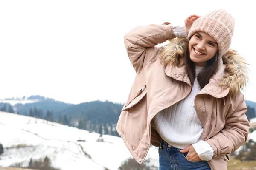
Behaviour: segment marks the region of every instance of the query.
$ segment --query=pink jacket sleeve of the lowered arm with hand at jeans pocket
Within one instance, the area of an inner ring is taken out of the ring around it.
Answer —
[[[213,159],[233,153],[246,142],[250,127],[245,115],[246,111],[244,95],[240,93],[239,104],[235,111],[228,116],[224,128],[206,140],[214,150]]]

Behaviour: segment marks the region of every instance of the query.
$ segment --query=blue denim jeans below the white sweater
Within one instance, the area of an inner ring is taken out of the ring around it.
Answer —
[[[170,146],[170,145],[169,145]],[[159,170],[211,170],[207,161],[189,161],[188,153],[181,153],[176,147],[168,147],[162,140],[159,150]]]

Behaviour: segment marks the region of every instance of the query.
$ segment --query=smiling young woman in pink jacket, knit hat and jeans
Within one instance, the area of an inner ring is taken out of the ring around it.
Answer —
[[[249,130],[240,92],[247,68],[229,50],[233,30],[233,17],[218,10],[189,16],[185,27],[151,24],[125,35],[137,74],[116,130],[138,163],[153,144],[160,170],[227,170],[227,154]]]

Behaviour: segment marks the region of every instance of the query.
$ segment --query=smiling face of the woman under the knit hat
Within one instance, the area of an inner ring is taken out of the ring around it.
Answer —
[[[216,40],[204,32],[195,33],[189,41],[189,57],[197,66],[205,66],[217,51]]]

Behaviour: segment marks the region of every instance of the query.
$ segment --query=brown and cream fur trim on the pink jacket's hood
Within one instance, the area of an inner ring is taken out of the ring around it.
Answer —
[[[161,52],[161,61],[165,65],[180,65],[180,57],[184,56],[186,38],[169,40],[169,44],[163,48]],[[229,88],[229,95],[236,96],[240,93],[248,81],[248,68],[243,57],[237,51],[228,50],[222,59],[219,59],[220,65],[216,74],[213,77],[218,77],[217,85],[220,87]],[[211,80],[210,80],[211,82]]]

